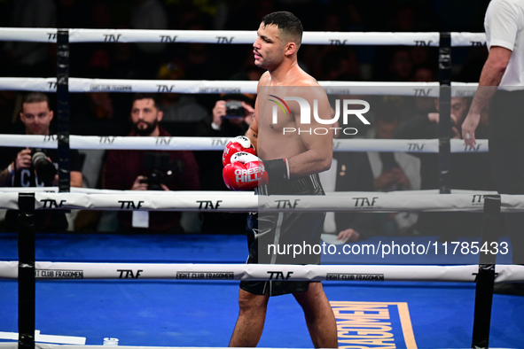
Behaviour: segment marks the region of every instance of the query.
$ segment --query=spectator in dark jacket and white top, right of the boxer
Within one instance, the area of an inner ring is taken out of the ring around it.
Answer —
[[[366,134],[367,138],[393,139],[395,129],[400,123],[398,109],[393,105],[382,104],[373,108],[374,127]],[[420,159],[405,152],[368,151],[376,191],[419,190]],[[379,213],[380,232],[385,235],[399,235],[410,232],[417,221],[417,213]]]

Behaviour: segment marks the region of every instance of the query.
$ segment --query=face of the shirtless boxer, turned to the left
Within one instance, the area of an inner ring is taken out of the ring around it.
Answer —
[[[284,58],[282,35],[274,24],[261,23],[253,44],[254,65],[263,69],[278,66]]]

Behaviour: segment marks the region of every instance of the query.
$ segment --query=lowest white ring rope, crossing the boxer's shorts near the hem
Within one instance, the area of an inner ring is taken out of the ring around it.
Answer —
[[[0,261],[0,278],[17,278],[18,261]],[[37,279],[182,279],[425,281],[473,283],[478,265],[282,265],[35,262]],[[280,274],[278,274],[280,273]],[[524,280],[524,266],[497,265],[496,283]],[[279,277],[278,275],[284,275]],[[286,278],[287,277],[287,278]],[[353,279],[352,279],[353,278]]]

